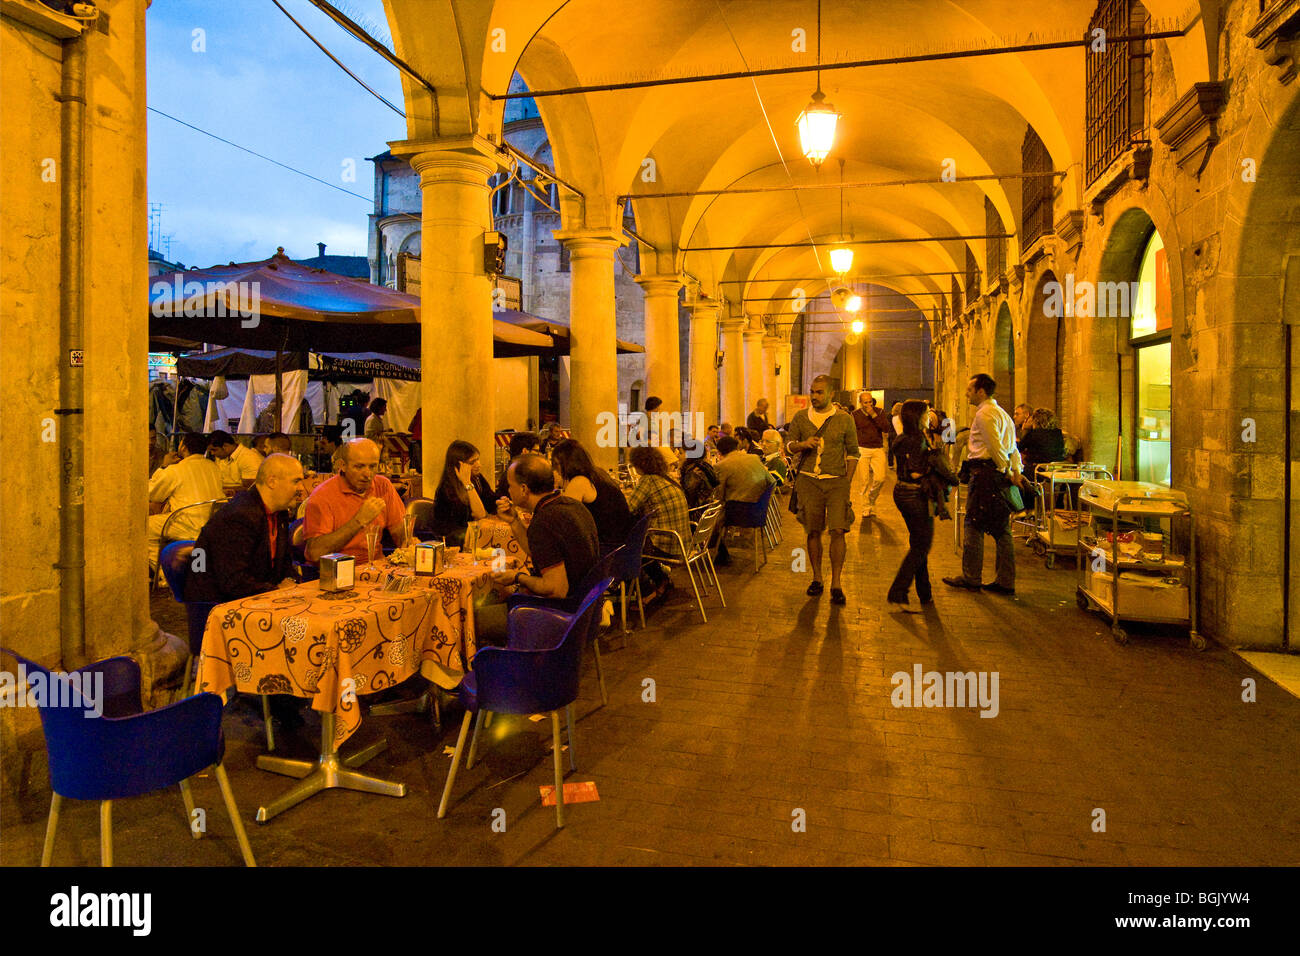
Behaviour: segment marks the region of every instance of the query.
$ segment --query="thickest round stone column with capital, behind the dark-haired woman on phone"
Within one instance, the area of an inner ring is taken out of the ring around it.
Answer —
[[[481,137],[390,146],[420,174],[420,407],[429,412],[422,466],[438,475],[456,438],[490,458],[497,428],[493,284],[484,268],[495,150]]]

